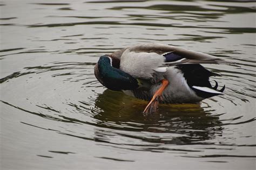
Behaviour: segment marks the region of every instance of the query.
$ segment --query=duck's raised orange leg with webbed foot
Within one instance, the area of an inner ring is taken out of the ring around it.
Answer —
[[[165,90],[167,85],[169,85],[169,81],[166,79],[163,79],[161,87],[156,91],[156,93],[154,93],[154,96],[150,100],[150,103],[147,104],[143,113],[148,114],[148,113],[153,113],[153,112],[157,111],[157,107],[159,104],[159,98],[161,98],[161,94],[163,93],[163,91]]]

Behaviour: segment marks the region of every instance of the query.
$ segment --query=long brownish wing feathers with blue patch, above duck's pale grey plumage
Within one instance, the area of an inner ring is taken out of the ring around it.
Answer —
[[[157,53],[165,57],[165,65],[177,65],[177,64],[228,64],[224,59],[207,55],[206,53],[186,50],[180,47],[146,43],[139,44],[128,48],[133,52],[147,52]]]

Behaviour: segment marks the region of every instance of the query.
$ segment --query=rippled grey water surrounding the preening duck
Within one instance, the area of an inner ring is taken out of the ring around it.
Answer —
[[[255,168],[255,3],[0,5],[1,169]],[[93,66],[146,42],[236,63],[204,65],[225,95],[144,117],[147,102],[106,90]]]

